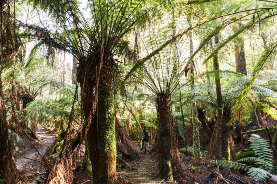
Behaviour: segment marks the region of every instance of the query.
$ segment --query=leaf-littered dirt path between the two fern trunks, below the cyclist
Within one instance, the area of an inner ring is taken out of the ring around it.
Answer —
[[[132,183],[157,184],[160,179],[158,177],[159,175],[158,165],[156,162],[156,153],[146,152],[146,154],[143,154],[139,149],[139,143],[137,142],[134,143],[133,146],[136,152],[139,154],[140,160],[127,162],[127,164],[130,164],[131,167],[137,170],[131,170],[129,167],[124,167],[123,169],[117,171],[117,173]]]

